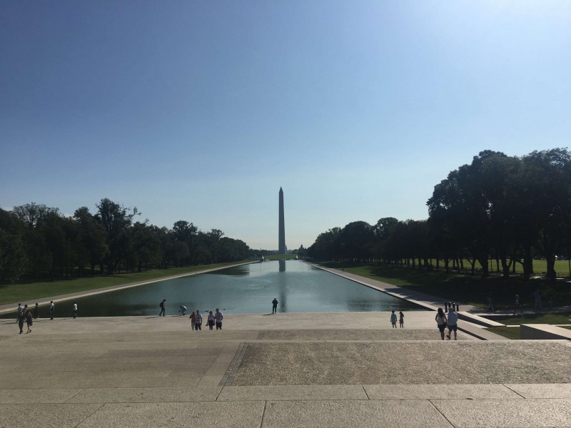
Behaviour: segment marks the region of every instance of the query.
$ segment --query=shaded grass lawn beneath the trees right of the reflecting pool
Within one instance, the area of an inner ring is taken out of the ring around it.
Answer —
[[[340,263],[322,263],[328,267],[341,268]],[[533,293],[540,289],[543,300],[552,299],[554,306],[571,302],[571,285],[568,282],[550,284],[544,280],[524,280],[522,277],[489,277],[478,275],[428,271],[410,267],[386,267],[378,265],[345,265],[345,271],[388,282],[400,287],[442,297],[444,301],[463,302],[477,307],[486,306],[486,298],[492,296],[496,309],[512,309],[515,295],[520,295],[522,307],[532,307]]]

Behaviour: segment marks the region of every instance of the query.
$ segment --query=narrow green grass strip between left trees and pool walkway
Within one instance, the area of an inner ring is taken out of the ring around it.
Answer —
[[[207,270],[214,267],[225,267],[229,265],[236,265],[236,263],[174,267],[171,269],[156,269],[149,270],[147,272],[124,273],[120,275],[83,277],[54,282],[31,282],[29,284],[0,285],[0,305],[7,305],[9,303],[17,304],[19,302],[24,303],[30,300],[40,300],[42,297],[94,290],[96,288],[128,284],[129,282],[156,280],[172,275],[181,275],[184,273],[196,272],[198,270]]]

